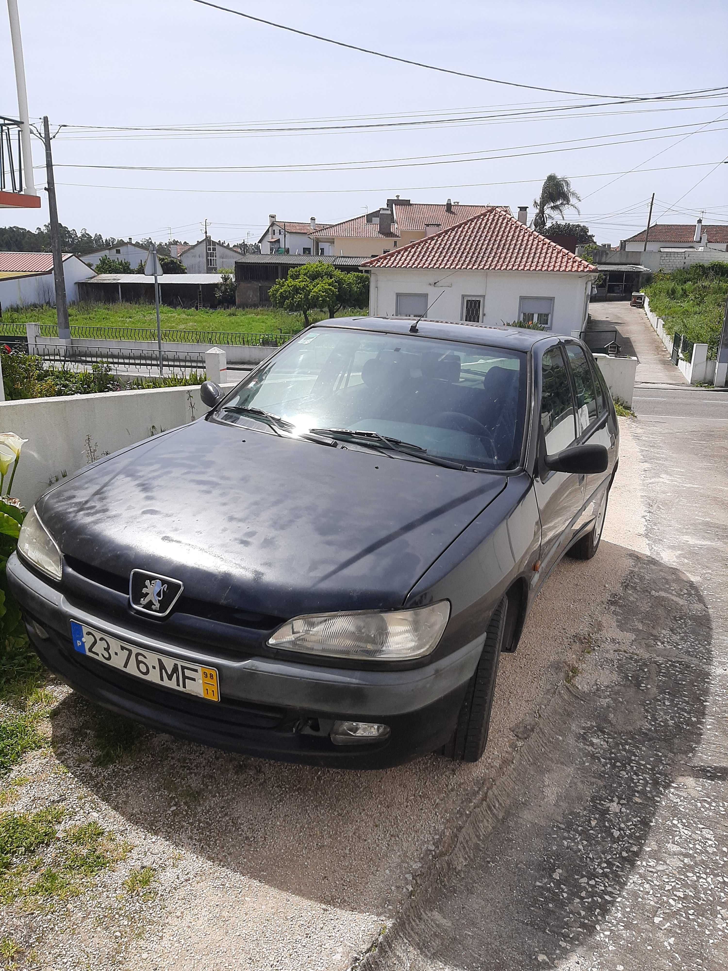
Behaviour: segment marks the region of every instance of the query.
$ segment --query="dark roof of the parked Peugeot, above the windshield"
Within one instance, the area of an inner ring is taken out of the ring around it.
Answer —
[[[319,320],[314,327],[347,327],[356,330],[378,330],[389,334],[410,334],[412,317],[338,317]],[[446,341],[463,341],[495,348],[511,348],[513,351],[529,351],[538,341],[554,336],[548,331],[529,330],[524,327],[488,327],[478,323],[458,323],[453,320],[417,320],[418,337],[440,338]]]

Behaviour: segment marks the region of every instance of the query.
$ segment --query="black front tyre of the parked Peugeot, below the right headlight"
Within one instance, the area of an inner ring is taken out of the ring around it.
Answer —
[[[468,683],[457,717],[457,726],[452,738],[443,748],[443,754],[456,762],[477,762],[485,751],[507,610],[508,599],[504,597],[490,618],[480,661],[476,673]]]

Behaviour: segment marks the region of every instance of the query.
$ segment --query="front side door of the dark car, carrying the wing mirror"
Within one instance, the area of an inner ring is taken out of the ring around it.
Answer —
[[[539,456],[534,488],[541,517],[541,577],[569,546],[578,528],[583,506],[583,483],[566,472],[552,472],[544,456],[568,449],[577,438],[572,380],[562,344],[554,344],[541,356],[541,402],[538,434]]]

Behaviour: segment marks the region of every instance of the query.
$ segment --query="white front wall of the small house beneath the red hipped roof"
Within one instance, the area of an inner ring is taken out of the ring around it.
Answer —
[[[460,320],[462,297],[484,296],[482,323],[499,326],[518,317],[520,297],[553,297],[551,329],[558,334],[580,330],[588,307],[591,274],[502,273],[461,270],[372,269],[370,314],[394,317],[397,293],[427,293],[436,320]],[[436,286],[436,282],[440,286]],[[437,303],[434,301],[437,299]]]

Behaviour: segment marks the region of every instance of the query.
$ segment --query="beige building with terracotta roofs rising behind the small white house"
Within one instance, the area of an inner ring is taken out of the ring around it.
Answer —
[[[449,229],[489,208],[492,207],[461,206],[449,199],[444,205],[387,199],[386,206],[381,209],[313,232],[314,255],[323,253],[369,259]],[[507,207],[502,208],[511,213]]]

